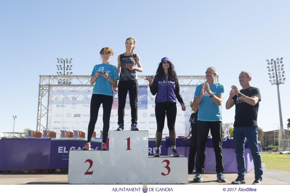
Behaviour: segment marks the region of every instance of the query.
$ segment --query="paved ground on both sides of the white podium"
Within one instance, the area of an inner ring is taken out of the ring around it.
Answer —
[[[205,172],[203,182],[192,182],[193,174],[188,175],[188,184],[231,184],[237,178],[237,174],[225,174],[227,183],[218,183],[216,174],[213,172]],[[246,174],[246,184],[252,184],[254,181],[254,171]],[[265,170],[263,175],[263,184],[288,184],[290,185],[290,172],[280,170]],[[0,184],[68,184],[67,173],[0,173]]]

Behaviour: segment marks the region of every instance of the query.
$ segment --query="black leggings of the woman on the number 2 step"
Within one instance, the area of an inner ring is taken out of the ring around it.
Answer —
[[[109,127],[110,115],[113,104],[113,96],[103,94],[93,94],[90,104],[90,123],[88,126],[88,142],[91,142],[95,125],[98,119],[99,108],[103,103],[103,143],[106,143]]]

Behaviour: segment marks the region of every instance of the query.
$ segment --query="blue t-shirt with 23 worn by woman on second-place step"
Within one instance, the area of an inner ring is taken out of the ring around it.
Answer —
[[[116,66],[110,64],[97,64],[94,66],[91,76],[95,76],[96,73],[104,74],[107,72],[111,79],[119,79],[118,70]],[[104,94],[113,96],[112,84],[108,79],[105,79],[102,75],[96,79],[93,94]]]

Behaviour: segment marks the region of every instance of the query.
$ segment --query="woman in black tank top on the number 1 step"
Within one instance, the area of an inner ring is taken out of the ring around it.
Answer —
[[[126,52],[118,56],[118,129],[124,130],[124,114],[126,97],[129,91],[131,106],[131,130],[138,131],[137,128],[137,101],[138,101],[138,81],[136,72],[142,72],[142,65],[137,54],[133,53],[136,40],[133,37],[126,39]],[[136,66],[137,64],[137,66]]]

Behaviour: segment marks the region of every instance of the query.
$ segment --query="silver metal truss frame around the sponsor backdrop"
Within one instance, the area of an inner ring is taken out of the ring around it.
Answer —
[[[139,85],[148,85],[146,76],[138,76]],[[91,76],[39,76],[39,91],[37,105],[36,130],[48,130],[50,116],[51,88],[53,87],[77,87],[92,86]],[[198,85],[206,81],[205,76],[178,76],[180,85]],[[217,77],[218,81],[218,77]]]

